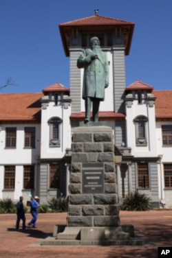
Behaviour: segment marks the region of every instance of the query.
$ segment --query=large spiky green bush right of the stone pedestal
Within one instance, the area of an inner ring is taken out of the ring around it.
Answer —
[[[151,209],[150,201],[151,199],[144,193],[135,191],[125,197],[120,209],[123,211],[148,211]]]

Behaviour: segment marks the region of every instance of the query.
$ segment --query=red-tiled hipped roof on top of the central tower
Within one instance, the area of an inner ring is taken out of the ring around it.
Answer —
[[[122,21],[119,19],[109,18],[105,16],[99,16],[96,13],[94,16],[61,23],[59,25],[59,29],[61,32],[61,38],[63,41],[63,47],[65,49],[66,56],[69,56],[69,34],[71,34],[74,29],[79,31],[82,30],[82,32],[107,32],[114,30],[115,27],[122,27],[125,31],[125,34],[127,34],[125,54],[128,55],[134,29],[134,23],[132,22]]]

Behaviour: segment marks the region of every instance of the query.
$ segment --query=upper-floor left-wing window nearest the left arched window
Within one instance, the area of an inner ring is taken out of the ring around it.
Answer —
[[[28,132],[27,132],[28,130]],[[27,126],[24,128],[25,136],[24,136],[24,148],[36,148],[36,128],[34,126]],[[26,140],[28,140],[29,144],[26,144]]]

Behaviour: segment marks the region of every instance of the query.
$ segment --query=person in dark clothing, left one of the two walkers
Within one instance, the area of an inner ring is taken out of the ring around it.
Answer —
[[[23,205],[23,196],[20,196],[19,202],[17,202],[17,222],[16,222],[16,229],[19,231],[19,224],[20,220],[23,220],[23,229],[27,229],[25,227],[25,211],[24,211],[24,205]]]

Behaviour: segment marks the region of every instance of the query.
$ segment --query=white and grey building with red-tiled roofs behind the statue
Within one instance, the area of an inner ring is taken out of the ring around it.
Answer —
[[[172,206],[172,91],[136,81],[126,87],[125,56],[134,23],[95,16],[59,25],[70,58],[70,89],[55,83],[43,93],[0,94],[0,198],[28,191],[41,203],[68,194],[72,132],[84,120],[83,69],[76,67],[89,38],[98,36],[109,61],[109,87],[100,121],[114,130],[118,194],[138,189]]]

